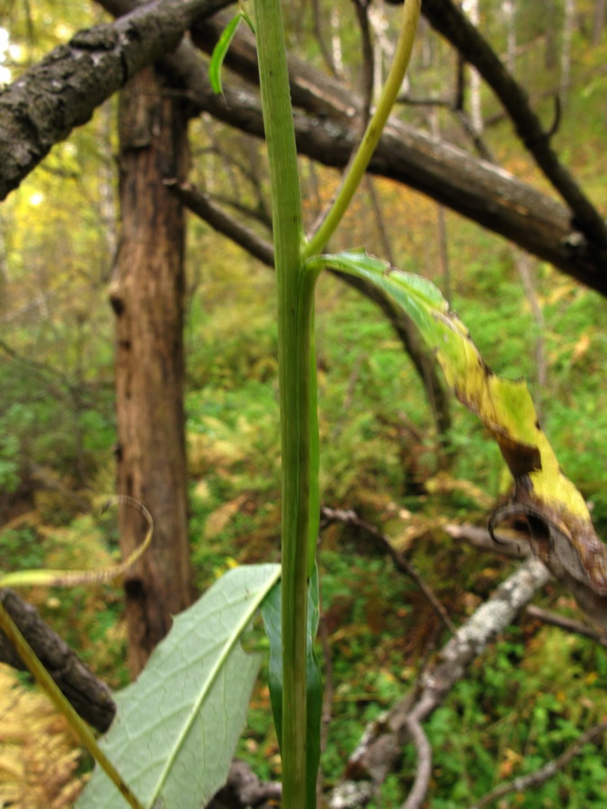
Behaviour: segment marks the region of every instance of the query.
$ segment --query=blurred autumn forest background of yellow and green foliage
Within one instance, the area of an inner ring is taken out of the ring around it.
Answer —
[[[362,92],[368,74],[357,9],[364,4],[294,0],[288,6],[290,49]],[[559,95],[552,144],[604,213],[605,4],[479,0],[476,10],[480,31],[542,120],[554,117]],[[398,13],[397,6],[374,0],[363,15],[376,92]],[[84,0],[4,2],[0,82],[10,84],[76,31],[106,19]],[[504,170],[553,194],[495,96],[468,67],[462,73],[465,115],[447,103],[412,102],[450,99],[457,73],[453,49],[423,21],[397,116],[462,149],[480,148]],[[2,570],[75,567],[83,559],[101,565],[119,553],[115,514],[98,514],[116,478],[115,317],[108,298],[121,238],[116,116],[114,97],[54,147],[0,207]],[[205,114],[192,120],[190,143],[190,182],[267,239],[261,142]],[[339,173],[307,157],[300,165],[309,226],[335,192]],[[186,244],[188,525],[201,591],[229,566],[278,559],[276,324],[271,270],[193,214]],[[332,244],[335,250],[351,246],[434,280],[492,369],[527,378],[561,466],[592,503],[604,537],[604,297],[385,178],[363,184]],[[415,564],[456,624],[513,562],[451,536],[453,526],[485,526],[487,513],[508,493],[498,449],[455,400],[448,405],[448,430],[439,434],[419,374],[388,320],[328,275],[317,292],[317,369],[322,501],[360,518],[326,520],[320,538],[321,653],[333,715],[322,768],[330,787],[365,724],[415,683],[424,658],[445,639],[424,594],[395,569],[368,526]],[[154,502],[146,504],[154,511]],[[112,688],[128,681],[120,587],[27,596]],[[550,582],[537,603],[580,618],[558,582]],[[22,714],[11,713],[9,723],[15,680],[9,669],[0,674],[0,805],[70,805],[84,765],[52,712],[27,707],[28,699],[38,699],[33,693],[19,692]],[[428,723],[435,755],[429,805],[473,805],[502,779],[554,759],[607,715],[606,687],[602,645],[523,615]],[[271,725],[262,684],[239,754],[263,778],[280,775]],[[45,764],[51,756],[58,762],[52,777]],[[377,806],[400,805],[413,765],[406,751]],[[596,742],[542,787],[496,805],[599,807],[605,795],[607,766]]]

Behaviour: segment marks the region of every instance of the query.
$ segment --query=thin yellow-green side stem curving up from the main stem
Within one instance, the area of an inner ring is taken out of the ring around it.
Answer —
[[[335,233],[335,228],[344,217],[344,213],[361,183],[362,176],[367,171],[370,158],[378,145],[381,132],[386,125],[388,115],[405,78],[406,67],[409,64],[411,50],[413,49],[420,5],[421,0],[406,0],[403,6],[403,21],[400,27],[394,61],[390,67],[386,84],[381,91],[377,108],[362,136],[361,145],[358,147],[358,151],[350,164],[350,170],[345,175],[344,182],[342,182],[331,208],[328,209],[326,217],[321,222],[317,232],[308,242],[305,250],[307,258],[321,253],[325,249],[327,242]]]

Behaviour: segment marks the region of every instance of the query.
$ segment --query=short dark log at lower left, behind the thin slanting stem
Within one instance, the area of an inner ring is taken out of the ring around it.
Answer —
[[[116,713],[110,689],[102,680],[97,680],[66,642],[44,623],[31,604],[12,590],[0,590],[0,601],[78,714],[104,733]],[[26,670],[22,659],[1,631],[0,662],[19,671]]]

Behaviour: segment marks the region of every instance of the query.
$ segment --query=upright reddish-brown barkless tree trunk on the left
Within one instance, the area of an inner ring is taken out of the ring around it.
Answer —
[[[118,491],[152,513],[152,547],[126,575],[129,670],[137,675],[172,616],[192,603],[183,414],[183,208],[163,184],[183,177],[187,116],[147,67],[121,96],[121,240],[116,313]],[[142,538],[121,507],[121,551]]]

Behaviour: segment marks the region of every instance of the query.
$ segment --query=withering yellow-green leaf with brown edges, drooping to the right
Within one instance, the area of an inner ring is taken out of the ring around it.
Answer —
[[[431,281],[362,250],[316,256],[306,266],[317,271],[320,264],[370,280],[405,309],[455,395],[497,441],[513,475],[513,497],[495,511],[490,530],[504,519],[524,520],[533,553],[607,628],[607,547],[596,536],[584,497],[562,473],[525,383],[497,377],[488,368]]]

